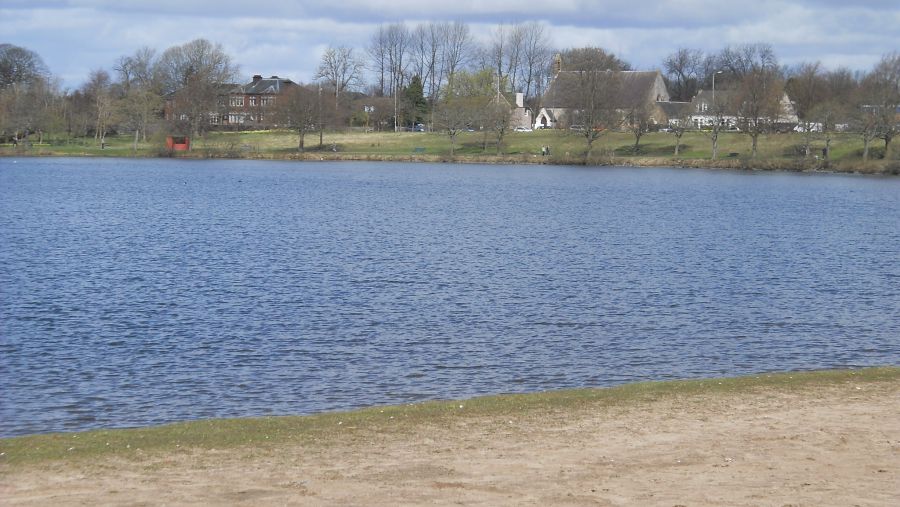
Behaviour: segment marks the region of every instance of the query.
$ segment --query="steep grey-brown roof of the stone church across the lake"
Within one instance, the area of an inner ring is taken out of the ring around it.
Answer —
[[[615,107],[617,109],[625,109],[634,104],[644,101],[656,101],[657,97],[653,96],[653,88],[657,79],[662,79],[659,71],[596,71],[598,73],[609,73],[615,79],[618,86],[616,93]],[[550,86],[547,87],[546,93],[541,101],[543,107],[549,108],[569,108],[572,107],[572,97],[578,88],[578,79],[581,75],[579,71],[564,70],[556,74]],[[668,93],[659,97],[659,100],[668,100]]]

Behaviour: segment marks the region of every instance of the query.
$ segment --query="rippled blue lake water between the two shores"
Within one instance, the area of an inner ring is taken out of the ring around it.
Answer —
[[[0,435],[900,364],[900,179],[0,159]]]

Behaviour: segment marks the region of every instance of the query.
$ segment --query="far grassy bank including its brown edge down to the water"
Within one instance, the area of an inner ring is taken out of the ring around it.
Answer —
[[[634,138],[627,133],[603,135],[585,156],[584,138],[569,131],[539,130],[511,132],[498,153],[496,139],[481,132],[464,132],[450,156],[449,138],[441,133],[419,132],[327,132],[321,147],[318,135],[306,136],[306,150],[297,149],[298,135],[289,131],[212,132],[193,141],[193,150],[176,156],[193,158],[247,158],[289,160],[400,160],[469,163],[550,163],[626,166],[718,167],[729,169],[827,170],[871,174],[900,174],[900,150],[883,157],[876,143],[872,160],[862,161],[862,141],[854,134],[839,134],[832,141],[831,163],[804,157],[802,134],[771,134],[760,138],[760,153],[750,157],[750,138],[739,132],[725,132],[719,138],[719,160],[710,160],[711,141],[702,132],[689,132],[681,140],[681,153],[674,156],[675,137],[664,132],[646,134],[637,152]],[[111,136],[101,148],[93,139],[66,139],[48,136],[30,147],[0,146],[6,156],[167,156],[162,138],[133,146],[131,135]],[[823,141],[812,144],[821,153]],[[550,156],[541,148],[550,147]]]

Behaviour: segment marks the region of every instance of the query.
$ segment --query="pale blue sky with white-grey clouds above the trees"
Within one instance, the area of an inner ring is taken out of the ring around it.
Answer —
[[[717,52],[768,43],[782,64],[869,70],[900,51],[897,0],[0,0],[0,42],[37,52],[63,87],[143,46],[221,43],[240,76],[312,80],[329,46],[362,52],[384,23],[462,21],[488,41],[537,21],[555,47],[600,46],[640,70],[679,47]]]

